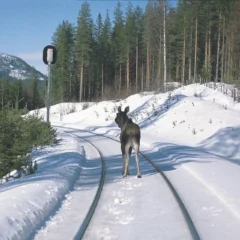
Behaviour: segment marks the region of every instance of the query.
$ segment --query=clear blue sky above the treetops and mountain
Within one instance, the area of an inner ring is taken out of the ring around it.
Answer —
[[[0,53],[22,58],[42,73],[47,66],[42,61],[42,51],[52,43],[57,26],[63,21],[76,25],[83,1],[78,0],[1,0],[0,2]],[[93,19],[100,12],[110,17],[117,1],[88,1]],[[123,9],[128,1],[120,1]],[[147,0],[131,1],[133,6],[145,8]]]

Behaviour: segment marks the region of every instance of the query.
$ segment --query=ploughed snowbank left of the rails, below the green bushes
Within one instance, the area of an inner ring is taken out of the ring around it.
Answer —
[[[56,147],[35,152],[35,174],[0,185],[0,239],[28,239],[54,213],[79,176],[84,152],[60,133]]]

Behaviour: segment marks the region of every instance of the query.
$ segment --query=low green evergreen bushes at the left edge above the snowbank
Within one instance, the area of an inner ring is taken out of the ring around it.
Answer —
[[[21,111],[3,107],[0,110],[0,177],[16,169],[34,172],[30,153],[36,147],[50,145],[56,131],[38,114],[22,116]]]

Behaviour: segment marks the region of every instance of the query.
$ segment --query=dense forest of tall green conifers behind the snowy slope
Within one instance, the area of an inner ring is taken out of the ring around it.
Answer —
[[[168,0],[151,0],[145,9],[134,8],[131,2],[123,9],[118,2],[113,19],[106,11],[94,21],[90,4],[83,2],[76,24],[63,20],[52,36],[58,55],[51,70],[51,102],[164,92],[168,82],[237,86],[239,17],[237,0],[178,0],[175,6]],[[24,93],[19,81],[11,83],[15,108],[26,101],[31,109],[44,105],[44,88],[30,82]]]

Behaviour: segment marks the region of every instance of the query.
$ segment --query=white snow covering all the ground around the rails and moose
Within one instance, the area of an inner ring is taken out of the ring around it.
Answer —
[[[62,140],[33,153],[35,174],[0,185],[0,239],[77,239],[96,193],[102,151],[106,184],[85,239],[189,239],[161,177],[140,159],[137,179],[121,177],[117,108],[141,127],[141,151],[164,170],[201,239],[240,239],[240,104],[193,84],[171,93],[144,92],[119,101],[62,103],[50,120]],[[46,118],[46,109],[39,114]],[[72,135],[72,133],[76,135]]]

